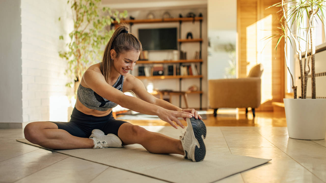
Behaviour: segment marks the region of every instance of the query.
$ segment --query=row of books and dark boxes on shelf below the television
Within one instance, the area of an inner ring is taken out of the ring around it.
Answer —
[[[197,76],[200,72],[195,63],[179,64],[153,64],[153,66],[139,66],[138,76]]]

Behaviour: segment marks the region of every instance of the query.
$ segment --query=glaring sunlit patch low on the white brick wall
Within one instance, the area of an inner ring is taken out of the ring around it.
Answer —
[[[50,96],[50,121],[67,122],[68,107],[67,96]]]

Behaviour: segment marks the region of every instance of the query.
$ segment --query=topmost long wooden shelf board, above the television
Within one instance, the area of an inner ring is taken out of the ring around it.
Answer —
[[[203,20],[202,17],[195,17],[195,21]],[[120,20],[120,23],[156,23],[156,22],[178,22],[193,21],[193,18],[170,18],[170,19],[140,19],[140,20]],[[113,22],[117,24],[117,21]]]

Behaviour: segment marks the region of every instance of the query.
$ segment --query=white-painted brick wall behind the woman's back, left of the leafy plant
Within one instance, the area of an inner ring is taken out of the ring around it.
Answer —
[[[67,0],[21,2],[23,122],[63,119],[56,118],[62,115],[57,109],[67,108],[67,102],[58,98],[64,100],[68,92],[67,62],[58,54],[65,43],[59,35],[68,37],[70,17]]]

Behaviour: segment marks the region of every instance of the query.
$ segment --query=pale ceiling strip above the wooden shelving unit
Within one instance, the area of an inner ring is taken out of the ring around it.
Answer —
[[[207,7],[207,0],[102,0],[102,6],[116,10]]]

